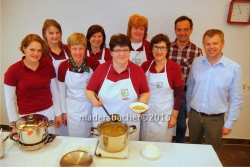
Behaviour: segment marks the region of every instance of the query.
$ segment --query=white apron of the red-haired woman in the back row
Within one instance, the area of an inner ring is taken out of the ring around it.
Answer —
[[[129,60],[141,66],[147,60],[145,46],[143,46],[143,51],[131,51]]]

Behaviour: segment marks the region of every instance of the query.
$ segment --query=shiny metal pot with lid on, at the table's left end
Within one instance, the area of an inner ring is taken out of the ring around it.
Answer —
[[[26,115],[10,123],[10,127],[17,129],[17,133],[12,134],[10,138],[22,145],[41,145],[41,142],[48,140],[47,128],[52,125],[53,120],[48,120],[44,115]],[[18,135],[17,140],[13,139],[16,134]]]

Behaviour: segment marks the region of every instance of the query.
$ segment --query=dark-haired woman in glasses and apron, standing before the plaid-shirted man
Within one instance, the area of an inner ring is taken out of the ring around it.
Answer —
[[[154,60],[146,61],[142,68],[150,89],[147,115],[154,121],[143,121],[140,140],[171,142],[173,128],[181,106],[184,80],[180,66],[170,60],[170,41],[167,35],[158,34],[150,41]]]

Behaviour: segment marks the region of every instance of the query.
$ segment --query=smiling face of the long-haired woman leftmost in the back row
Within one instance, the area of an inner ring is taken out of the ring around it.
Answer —
[[[61,41],[62,35],[56,27],[50,26],[46,30],[45,37],[47,38],[47,41],[50,45],[50,44],[58,44]]]

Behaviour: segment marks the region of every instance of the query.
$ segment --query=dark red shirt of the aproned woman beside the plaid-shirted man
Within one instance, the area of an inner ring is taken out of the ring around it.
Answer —
[[[147,72],[152,61],[153,60],[145,61],[141,65],[145,73]],[[155,62],[153,62],[149,69],[149,72],[157,73],[155,69],[155,65],[156,65]],[[165,72],[164,70],[165,68],[163,68],[160,71],[160,73]],[[181,107],[183,90],[184,90],[184,79],[182,77],[181,68],[177,63],[173,62],[170,59],[167,59],[166,71],[167,71],[166,77],[168,79],[169,86],[174,90],[174,108],[173,109],[179,111]]]

